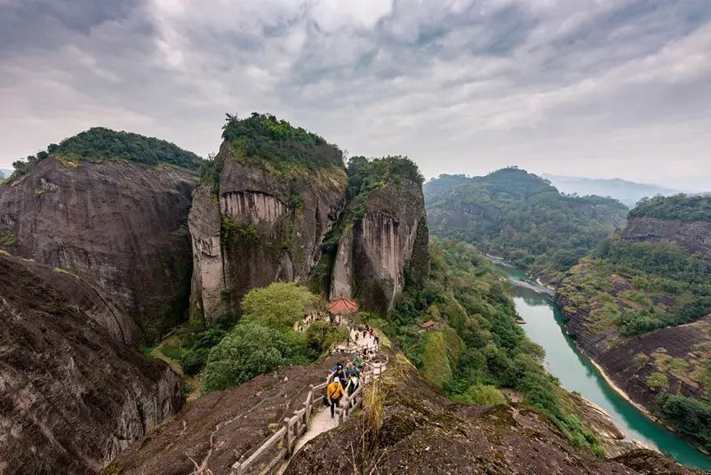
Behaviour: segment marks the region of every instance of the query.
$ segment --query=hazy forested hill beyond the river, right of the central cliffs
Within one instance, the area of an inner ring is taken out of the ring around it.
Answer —
[[[515,167],[472,178],[441,175],[424,192],[435,235],[470,242],[551,280],[624,224],[627,214],[617,200],[563,195]]]

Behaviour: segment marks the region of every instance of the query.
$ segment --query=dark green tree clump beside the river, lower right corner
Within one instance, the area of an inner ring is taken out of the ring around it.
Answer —
[[[711,406],[708,402],[664,392],[657,397],[655,412],[711,450]]]

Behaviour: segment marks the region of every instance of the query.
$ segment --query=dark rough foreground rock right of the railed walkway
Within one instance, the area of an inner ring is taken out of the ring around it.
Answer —
[[[609,460],[580,454],[530,409],[454,404],[413,369],[383,377],[378,418],[324,432],[284,473],[695,473],[649,450]]]

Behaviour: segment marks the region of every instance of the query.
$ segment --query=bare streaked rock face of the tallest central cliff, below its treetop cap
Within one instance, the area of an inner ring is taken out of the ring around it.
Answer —
[[[201,285],[194,278],[193,301],[202,302],[202,316],[208,322],[219,315],[222,305],[238,308],[252,288],[308,278],[321,257],[324,236],[343,208],[346,190],[345,170],[300,169],[287,176],[268,163],[236,159],[227,142],[220,156],[224,165],[218,202],[212,197],[207,205],[204,188],[209,185],[203,185],[190,221],[194,254],[200,254],[195,274],[202,276]],[[205,247],[211,248],[209,258]],[[221,281],[215,277],[220,273]],[[211,275],[209,281],[206,274]],[[218,295],[223,302],[218,302]],[[199,317],[201,308],[193,305],[193,312]]]

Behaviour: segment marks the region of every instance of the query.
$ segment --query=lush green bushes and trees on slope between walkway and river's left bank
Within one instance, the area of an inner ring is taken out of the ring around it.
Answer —
[[[563,410],[558,382],[541,366],[543,350],[516,325],[504,275],[467,243],[432,239],[430,259],[424,287],[406,289],[382,324],[425,378],[452,399],[479,404],[501,400],[497,388],[520,390],[573,444],[599,452]],[[423,331],[429,319],[438,325]]]

